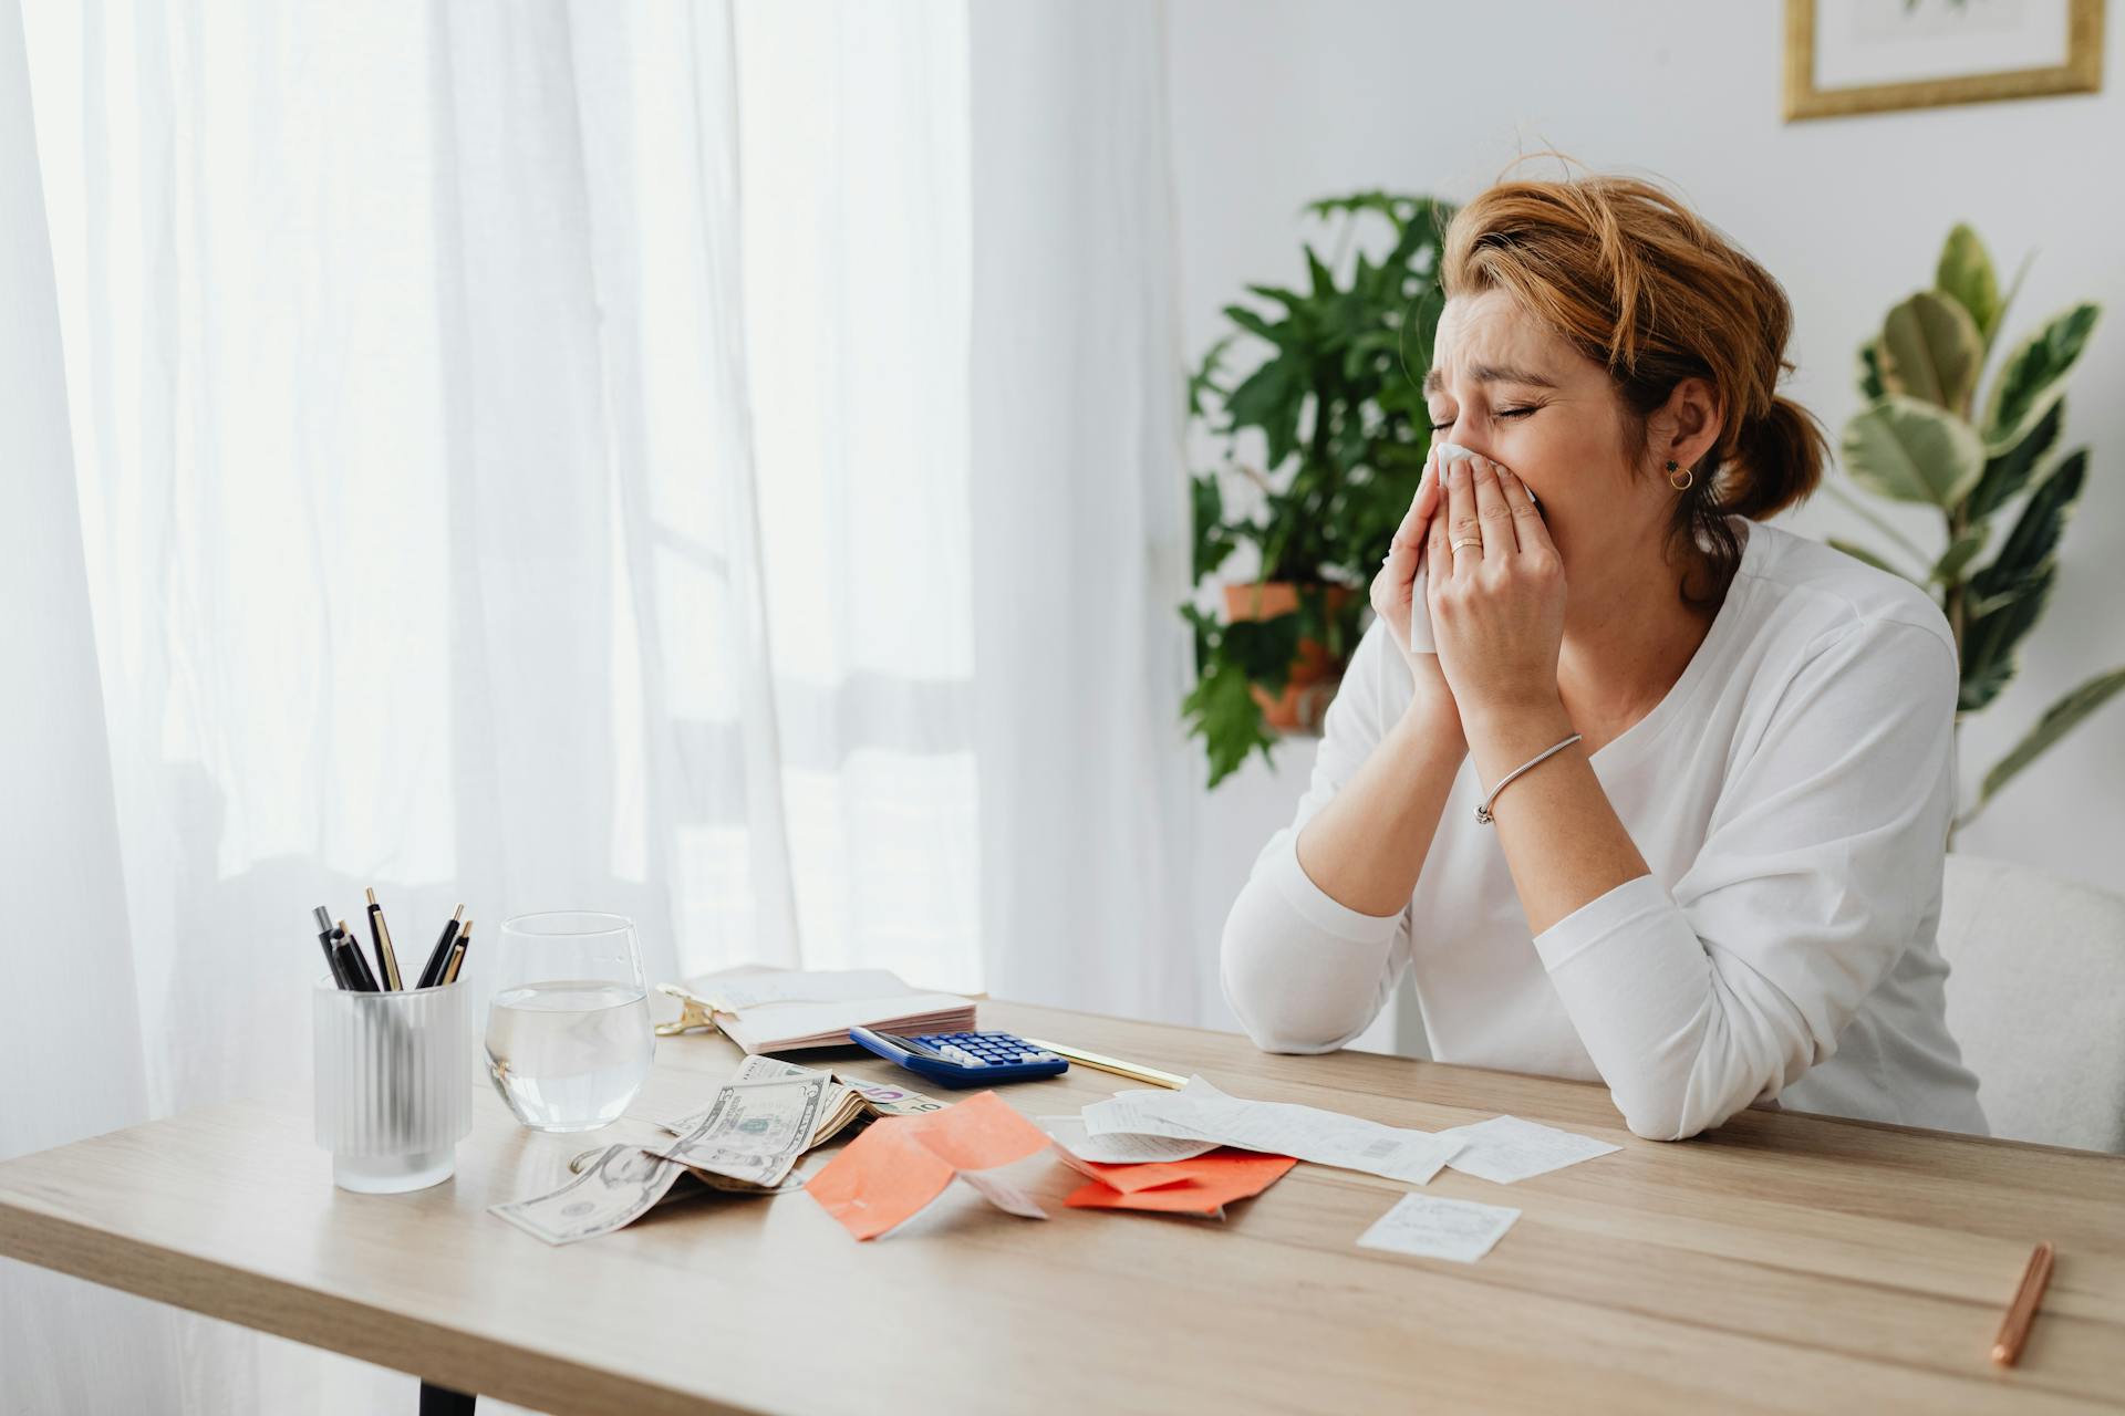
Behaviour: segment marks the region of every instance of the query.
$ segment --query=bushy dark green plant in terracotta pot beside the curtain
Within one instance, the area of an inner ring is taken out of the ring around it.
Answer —
[[[1313,202],[1305,214],[1330,223],[1345,251],[1322,261],[1305,244],[1305,291],[1250,284],[1258,306],[1224,308],[1235,329],[1188,380],[1190,420],[1224,446],[1224,467],[1192,478],[1196,586],[1252,548],[1258,586],[1290,582],[1296,590],[1296,609],[1252,620],[1182,605],[1196,645],[1196,686],[1182,713],[1205,743],[1211,785],[1250,752],[1271,758],[1277,737],[1264,703],[1284,694],[1305,643],[1322,645],[1334,667],[1356,647],[1364,588],[1417,493],[1430,448],[1424,391],[1411,372],[1432,361],[1445,306],[1439,236],[1454,208],[1362,191]],[[1339,282],[1347,246],[1368,225],[1390,238],[1386,253],[1373,259],[1360,248],[1349,280]],[[1235,346],[1260,350],[1260,361],[1230,372]],[[1239,461],[1250,435],[1264,448],[1258,467]],[[1241,493],[1237,503],[1226,501],[1228,486]]]

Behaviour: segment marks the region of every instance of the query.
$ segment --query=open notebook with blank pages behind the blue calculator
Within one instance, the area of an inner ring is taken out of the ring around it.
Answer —
[[[848,1042],[850,1028],[880,1032],[965,1032],[973,1002],[958,994],[920,994],[886,968],[729,968],[659,985],[708,1008],[727,1038],[748,1053],[793,1053]]]

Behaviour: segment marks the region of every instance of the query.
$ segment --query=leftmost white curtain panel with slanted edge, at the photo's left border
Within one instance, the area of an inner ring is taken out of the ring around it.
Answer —
[[[17,0],[0,0],[0,1157],[147,1119],[60,308]],[[113,1337],[132,1359],[108,1359]],[[0,1261],[0,1410],[153,1410],[168,1310]]]

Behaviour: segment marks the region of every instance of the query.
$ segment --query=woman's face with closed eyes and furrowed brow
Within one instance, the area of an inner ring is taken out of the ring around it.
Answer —
[[[1511,467],[1534,493],[1564,577],[1613,554],[1658,554],[1666,484],[1624,461],[1609,372],[1534,321],[1507,291],[1456,295],[1424,378],[1432,437]]]

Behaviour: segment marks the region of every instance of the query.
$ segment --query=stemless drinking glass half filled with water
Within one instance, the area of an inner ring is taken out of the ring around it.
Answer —
[[[516,1119],[536,1132],[618,1121],[657,1053],[633,921],[516,915],[489,962],[487,1074]]]

